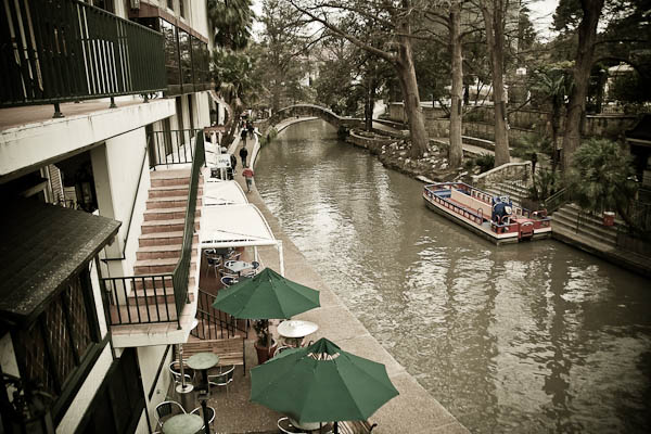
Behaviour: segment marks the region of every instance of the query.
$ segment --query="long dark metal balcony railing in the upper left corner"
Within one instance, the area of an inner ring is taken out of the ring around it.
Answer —
[[[165,90],[163,35],[78,0],[17,0],[0,14],[0,106]]]

